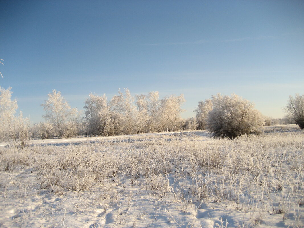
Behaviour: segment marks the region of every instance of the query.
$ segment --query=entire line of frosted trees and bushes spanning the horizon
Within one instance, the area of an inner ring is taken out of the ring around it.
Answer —
[[[0,87],[0,140],[17,149],[25,146],[30,135],[49,139],[207,129],[212,136],[234,138],[259,133],[265,123],[271,124],[271,119],[254,109],[253,103],[235,94],[218,94],[200,101],[194,110],[195,118],[182,119],[183,95],[160,99],[158,92],[150,92],[133,97],[129,89],[124,89],[124,93],[119,90],[118,95],[108,101],[105,95],[91,93],[85,99],[81,114],[71,108],[60,92],[53,90],[41,105],[45,122],[29,130],[29,119],[23,118],[21,111],[16,112],[17,102],[11,100],[11,94],[11,88]],[[290,96],[284,110],[288,123],[304,128],[304,95]]]

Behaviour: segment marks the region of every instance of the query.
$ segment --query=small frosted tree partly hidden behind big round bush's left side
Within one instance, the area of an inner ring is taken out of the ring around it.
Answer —
[[[199,130],[206,129],[207,117],[211,110],[212,110],[212,101],[210,99],[206,99],[204,102],[199,101],[199,105],[194,110],[195,119],[198,122]]]

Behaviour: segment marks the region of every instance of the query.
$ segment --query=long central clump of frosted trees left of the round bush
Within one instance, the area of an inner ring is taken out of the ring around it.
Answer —
[[[90,94],[85,100],[84,115],[72,109],[60,92],[53,90],[41,106],[46,112],[46,122],[37,124],[35,136],[67,138],[77,134],[91,136],[112,136],[160,131],[177,131],[181,128],[181,105],[184,96],[170,95],[159,99],[158,92],[136,95],[129,89],[108,102],[105,95]]]

